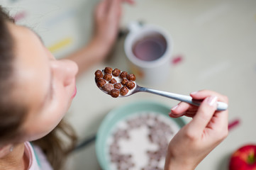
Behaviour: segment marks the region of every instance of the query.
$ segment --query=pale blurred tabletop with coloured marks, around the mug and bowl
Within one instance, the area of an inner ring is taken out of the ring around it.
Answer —
[[[1,0],[16,23],[35,30],[55,57],[77,50],[91,38],[95,0]],[[167,106],[178,102],[152,94],[111,98],[94,83],[94,72],[104,67],[126,69],[123,40],[131,21],[165,28],[172,36],[171,77],[150,86],[178,94],[211,89],[229,98],[230,134],[196,169],[228,169],[230,154],[256,143],[256,1],[255,0],[135,0],[123,4],[121,32],[106,63],[97,64],[77,83],[77,97],[67,114],[80,142],[94,136],[113,108],[145,98]],[[189,119],[185,119],[189,121]],[[70,169],[101,169],[94,142],[74,152]]]

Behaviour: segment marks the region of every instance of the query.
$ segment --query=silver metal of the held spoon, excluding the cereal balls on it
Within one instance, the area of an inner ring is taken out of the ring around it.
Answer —
[[[135,83],[135,81],[134,81],[134,83]],[[101,89],[101,91],[104,91],[104,90]],[[129,90],[128,94],[126,94],[125,96],[119,95],[119,97],[127,97],[127,96],[130,96],[130,95],[138,93],[138,92],[148,92],[150,94],[157,94],[159,96],[165,96],[167,98],[172,98],[177,101],[184,101],[184,102],[190,103],[194,106],[200,106],[200,104],[202,102],[199,100],[194,100],[191,96],[186,96],[186,95],[182,95],[182,94],[173,94],[173,93],[169,93],[167,91],[159,91],[159,90],[155,90],[155,89],[149,89],[149,88],[138,86],[138,84],[136,84],[136,83],[135,83],[135,87],[132,90]],[[108,94],[106,91],[104,91],[104,93]],[[228,108],[228,105],[226,103],[218,101],[217,111],[225,111],[227,108]]]

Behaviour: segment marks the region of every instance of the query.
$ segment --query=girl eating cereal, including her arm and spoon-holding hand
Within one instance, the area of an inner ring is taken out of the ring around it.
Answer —
[[[120,5],[121,0],[102,1],[96,9],[96,21],[107,17],[118,23]],[[52,169],[52,166],[61,169],[63,162],[58,161],[57,154],[49,154],[48,147],[52,152],[61,150],[64,156],[70,150],[60,145],[55,130],[59,124],[62,132],[72,137],[72,130],[63,130],[65,126],[60,122],[76,94],[78,68],[83,72],[84,65],[104,58],[116,38],[117,26],[107,27],[113,33],[111,37],[106,37],[100,30],[102,27],[99,28],[100,33],[87,47],[69,57],[71,60],[55,60],[38,35],[15,25],[0,7],[0,169]],[[91,57],[95,44],[106,48],[96,52],[96,58]],[[228,103],[228,98],[213,91],[198,91],[191,96],[204,99],[201,106],[179,103],[170,113],[172,117],[186,115],[193,119],[169,142],[166,170],[194,169],[228,135],[228,111],[216,111],[216,102]],[[46,143],[43,139],[47,139]],[[38,142],[52,166],[42,150],[33,149],[30,141]],[[39,162],[35,153],[39,153]]]

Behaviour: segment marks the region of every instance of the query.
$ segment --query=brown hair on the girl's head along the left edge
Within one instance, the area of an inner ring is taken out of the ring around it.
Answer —
[[[13,20],[0,8],[0,145],[15,141],[20,134],[18,127],[23,121],[25,108],[18,107],[18,103],[11,102],[11,91],[14,87],[12,79],[13,46],[14,42],[9,33],[6,21]]]

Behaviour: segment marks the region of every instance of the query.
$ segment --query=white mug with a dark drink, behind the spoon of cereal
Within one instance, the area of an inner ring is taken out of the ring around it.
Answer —
[[[163,28],[152,25],[141,25],[138,22],[130,23],[129,30],[130,32],[124,42],[124,50],[129,61],[130,71],[135,74],[136,81],[138,80],[145,85],[162,84],[166,79],[169,79],[170,74],[173,47],[171,36]],[[147,47],[145,43],[150,43],[149,41],[146,42],[150,36],[159,37],[161,43],[155,42],[153,44],[152,42],[150,44],[151,46],[148,46],[149,52],[147,54],[147,50],[144,50],[144,47]],[[143,49],[141,52],[136,51],[136,48],[140,49],[139,47]],[[155,52],[157,52],[157,57],[152,55]],[[143,54],[145,57],[140,57]],[[150,59],[146,58],[147,55],[150,55]]]

